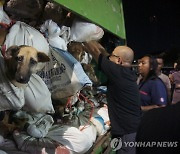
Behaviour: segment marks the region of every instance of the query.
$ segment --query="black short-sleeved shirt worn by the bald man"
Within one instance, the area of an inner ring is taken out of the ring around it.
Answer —
[[[98,64],[108,78],[107,101],[112,135],[136,132],[141,109],[135,73],[131,68],[117,65],[102,55]]]

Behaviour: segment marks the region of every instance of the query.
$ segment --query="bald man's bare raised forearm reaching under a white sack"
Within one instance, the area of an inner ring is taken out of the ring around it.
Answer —
[[[90,53],[97,63],[100,54],[103,54],[104,56],[109,55],[103,46],[97,41],[85,42],[83,44],[85,51]]]

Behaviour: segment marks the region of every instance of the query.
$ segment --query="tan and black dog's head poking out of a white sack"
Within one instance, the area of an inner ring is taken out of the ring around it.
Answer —
[[[47,62],[49,57],[30,46],[11,46],[4,54],[6,74],[10,80],[28,83],[32,73],[36,72],[38,62]]]

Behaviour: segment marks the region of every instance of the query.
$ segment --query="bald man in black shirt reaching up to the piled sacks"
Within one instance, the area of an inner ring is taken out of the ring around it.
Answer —
[[[111,134],[113,139],[120,138],[124,146],[119,148],[114,142],[116,139],[112,140],[111,145],[116,148],[118,154],[134,154],[135,148],[126,144],[135,141],[141,119],[136,75],[131,70],[134,52],[127,46],[118,46],[107,56],[105,49],[98,42],[91,41],[84,46],[108,78],[107,101]]]

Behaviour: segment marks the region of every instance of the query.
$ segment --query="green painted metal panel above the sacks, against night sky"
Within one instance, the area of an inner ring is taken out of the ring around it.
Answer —
[[[89,21],[126,39],[122,0],[54,0]]]

